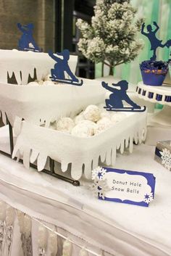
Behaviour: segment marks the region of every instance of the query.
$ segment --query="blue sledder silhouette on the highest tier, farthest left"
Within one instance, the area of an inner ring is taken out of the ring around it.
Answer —
[[[22,36],[18,41],[18,49],[21,51],[42,51],[36,44],[36,41],[33,38],[33,24],[29,23],[28,25],[21,25],[17,23],[17,27],[22,32]]]

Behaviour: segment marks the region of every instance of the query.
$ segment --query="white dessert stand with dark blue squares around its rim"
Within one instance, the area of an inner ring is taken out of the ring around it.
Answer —
[[[171,97],[171,86],[146,86],[140,82],[136,93],[140,99],[164,105],[161,111],[151,117],[151,123],[171,127],[171,102],[167,102],[168,97]]]

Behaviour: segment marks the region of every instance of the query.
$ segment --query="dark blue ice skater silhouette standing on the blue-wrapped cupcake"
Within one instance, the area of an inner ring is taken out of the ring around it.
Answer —
[[[157,31],[159,30],[159,26],[157,25],[157,22],[153,22],[154,26],[156,27],[154,30],[152,30],[151,25],[145,25],[145,23],[143,23],[142,27],[141,27],[141,33],[146,36],[147,38],[149,38],[150,44],[151,44],[151,51],[153,51],[153,56],[150,58],[151,60],[155,60],[157,59],[157,48],[161,47],[164,48],[165,46],[167,46],[167,48],[169,48],[171,46],[171,40],[167,40],[167,42],[165,44],[162,44],[162,40],[159,40],[156,36]],[[144,32],[144,28],[146,26],[146,29],[148,31],[148,33]]]

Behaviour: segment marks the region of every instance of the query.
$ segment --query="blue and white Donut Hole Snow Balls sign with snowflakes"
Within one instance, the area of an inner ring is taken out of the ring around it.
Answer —
[[[154,199],[152,173],[112,168],[96,168],[92,172],[99,199],[145,207]]]

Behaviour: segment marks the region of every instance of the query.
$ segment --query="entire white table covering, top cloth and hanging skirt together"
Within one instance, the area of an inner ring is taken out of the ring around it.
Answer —
[[[2,256],[8,249],[12,256],[23,251],[24,256],[56,255],[57,245],[57,256],[171,255],[171,173],[154,161],[154,146],[139,145],[133,154],[118,154],[115,168],[154,173],[155,198],[149,207],[100,201],[93,198],[88,181],[74,187],[0,155],[0,199],[12,207],[4,213],[0,207],[1,230],[2,223],[11,227],[4,235],[0,231]],[[27,214],[26,220],[16,209]],[[9,239],[1,242],[6,236]]]

